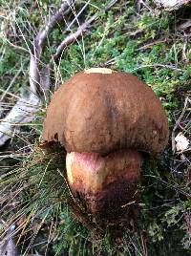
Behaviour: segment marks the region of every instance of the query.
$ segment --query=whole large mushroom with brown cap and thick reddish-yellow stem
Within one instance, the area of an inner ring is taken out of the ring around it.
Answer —
[[[42,139],[66,149],[74,197],[106,215],[136,201],[142,153],[164,149],[168,123],[158,96],[138,77],[94,68],[54,93]]]

